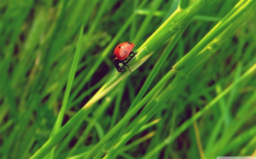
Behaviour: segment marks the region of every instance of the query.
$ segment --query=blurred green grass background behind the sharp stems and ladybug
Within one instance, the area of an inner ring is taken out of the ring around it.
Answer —
[[[136,51],[179,3],[177,0],[1,0],[1,158],[30,158],[49,139],[63,104],[77,47],[80,47],[79,61],[62,125],[116,75],[112,61],[114,48],[131,41]],[[197,13],[177,39],[146,94],[237,3],[212,1]],[[256,62],[255,20],[254,9],[235,33],[223,41],[215,55],[159,107],[150,119],[151,122],[157,119],[156,123],[134,134],[113,158],[143,158],[252,67]],[[82,44],[77,46],[82,25]],[[72,134],[66,135],[54,148],[54,154],[46,158],[68,158],[90,151],[127,113],[164,46],[158,47],[138,69],[95,102]],[[255,75],[243,80],[151,158],[255,156],[255,82]],[[90,122],[91,128],[87,130]],[[113,138],[118,140],[120,136]],[[105,150],[103,154],[108,152]]]

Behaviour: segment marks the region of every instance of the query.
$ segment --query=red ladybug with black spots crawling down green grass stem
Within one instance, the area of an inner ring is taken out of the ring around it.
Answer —
[[[113,61],[118,72],[124,71],[125,68],[123,67],[123,65],[127,66],[127,68],[129,69],[127,63],[137,54],[132,51],[134,46],[135,45],[130,42],[124,42],[117,45],[116,49],[114,50]],[[129,71],[131,72],[130,69]]]

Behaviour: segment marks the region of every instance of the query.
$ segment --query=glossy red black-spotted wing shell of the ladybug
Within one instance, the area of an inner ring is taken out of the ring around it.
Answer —
[[[134,46],[135,45],[130,42],[124,42],[117,45],[114,50],[114,55],[116,55],[115,59],[124,60],[130,54]]]

